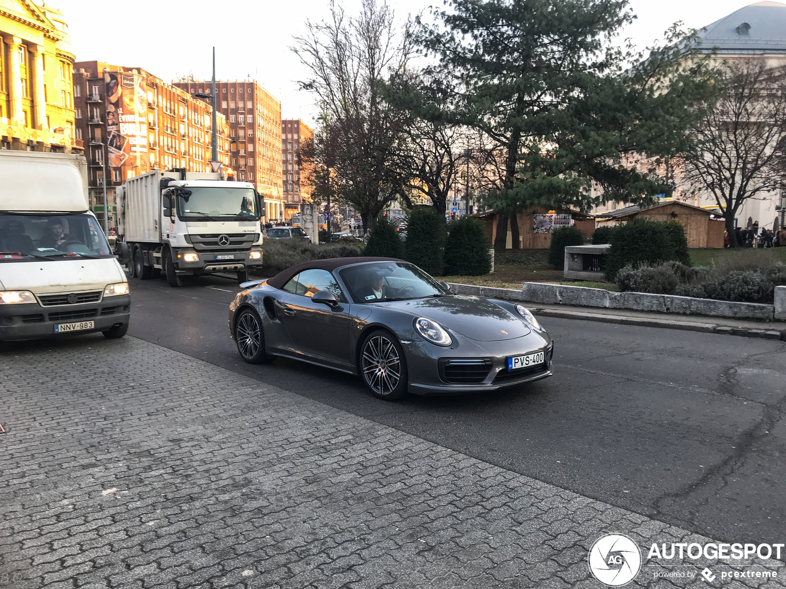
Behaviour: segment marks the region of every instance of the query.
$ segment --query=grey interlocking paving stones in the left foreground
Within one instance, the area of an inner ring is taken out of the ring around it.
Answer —
[[[604,533],[708,541],[134,338],[0,361],[0,587],[601,587]],[[686,561],[628,587],[786,586]]]

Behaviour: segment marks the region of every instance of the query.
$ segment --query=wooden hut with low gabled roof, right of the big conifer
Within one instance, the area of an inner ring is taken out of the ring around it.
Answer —
[[[685,227],[688,247],[723,247],[725,224],[711,210],[678,200],[664,200],[649,207],[634,205],[619,210],[610,210],[597,215],[597,224],[617,225],[632,218],[641,217],[649,221],[679,221]]]

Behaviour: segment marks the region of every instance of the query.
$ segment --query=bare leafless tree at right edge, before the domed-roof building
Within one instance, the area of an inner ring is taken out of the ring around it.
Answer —
[[[692,128],[695,145],[685,155],[684,180],[709,192],[725,219],[731,247],[737,211],[760,192],[780,189],[786,156],[784,68],[761,60],[729,65],[725,91]]]

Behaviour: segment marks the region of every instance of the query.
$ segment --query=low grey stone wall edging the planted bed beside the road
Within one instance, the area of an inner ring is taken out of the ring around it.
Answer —
[[[545,305],[634,309],[655,313],[733,317],[762,321],[786,320],[786,287],[776,287],[775,305],[715,301],[710,298],[678,297],[672,294],[612,292],[604,291],[601,288],[569,287],[562,284],[538,282],[525,282],[520,291],[510,288],[477,287],[470,284],[450,284],[450,290],[456,294],[477,294],[483,297],[539,302]]]

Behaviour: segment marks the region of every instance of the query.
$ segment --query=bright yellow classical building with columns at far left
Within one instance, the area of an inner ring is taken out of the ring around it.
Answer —
[[[0,2],[0,148],[82,151],[73,64],[63,13],[46,4]]]

